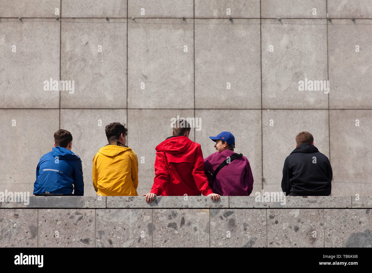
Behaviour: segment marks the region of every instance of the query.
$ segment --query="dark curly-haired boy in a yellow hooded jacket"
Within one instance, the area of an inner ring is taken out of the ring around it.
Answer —
[[[97,195],[138,196],[138,159],[125,146],[128,129],[119,122],[105,127],[108,144],[93,158],[93,186]]]

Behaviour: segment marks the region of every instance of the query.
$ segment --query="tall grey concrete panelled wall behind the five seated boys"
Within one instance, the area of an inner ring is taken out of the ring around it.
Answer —
[[[208,136],[235,135],[253,192],[281,190],[284,159],[307,130],[330,158],[332,195],[372,195],[371,35],[366,0],[0,0],[0,191],[33,192],[61,128],[94,195],[93,156],[120,121],[144,194],[179,115],[201,118],[190,139],[204,156],[215,152]],[[50,78],[74,81],[74,93],[44,91]],[[299,91],[305,78],[329,80],[329,94]]]

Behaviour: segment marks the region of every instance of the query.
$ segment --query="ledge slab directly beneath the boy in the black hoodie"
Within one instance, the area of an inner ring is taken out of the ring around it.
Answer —
[[[266,190],[265,190],[266,192]],[[279,194],[278,194],[279,192]],[[262,196],[264,198],[262,199]],[[279,196],[279,197],[278,197]],[[230,196],[230,208],[351,208],[349,196]]]

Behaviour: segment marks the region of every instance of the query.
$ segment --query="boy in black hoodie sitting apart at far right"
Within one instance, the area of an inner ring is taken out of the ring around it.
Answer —
[[[328,157],[314,146],[306,131],[296,136],[296,149],[284,161],[282,190],[290,196],[331,194],[332,168]]]

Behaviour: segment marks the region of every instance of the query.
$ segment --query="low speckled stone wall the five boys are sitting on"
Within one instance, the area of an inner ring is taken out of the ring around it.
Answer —
[[[31,196],[0,203],[0,247],[371,247],[372,197]]]

